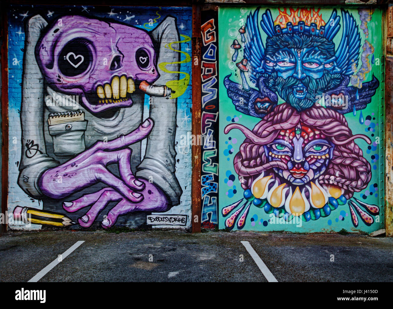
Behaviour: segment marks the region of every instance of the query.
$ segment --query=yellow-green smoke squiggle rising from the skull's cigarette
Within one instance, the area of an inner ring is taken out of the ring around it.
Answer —
[[[166,86],[171,88],[172,90],[175,90],[175,93],[172,93],[171,95],[171,99],[175,99],[177,97],[180,97],[180,95],[182,95],[185,90],[187,89],[187,86],[190,82],[190,75],[188,73],[185,72],[180,72],[180,71],[169,71],[166,66],[168,64],[182,64],[182,63],[187,63],[191,61],[191,57],[188,53],[184,52],[184,51],[180,51],[177,49],[172,48],[172,44],[176,44],[179,43],[179,47],[180,47],[180,43],[186,43],[191,41],[191,38],[188,37],[187,35],[180,35],[180,37],[183,37],[184,40],[182,41],[177,41],[177,42],[171,42],[165,45],[165,48],[171,49],[173,51],[177,51],[179,53],[182,53],[185,55],[185,59],[182,61],[174,61],[174,62],[161,62],[160,64],[158,64],[158,67],[164,71],[165,73],[180,73],[180,74],[184,74],[184,78],[179,79],[179,80],[170,80],[169,82],[166,83]]]

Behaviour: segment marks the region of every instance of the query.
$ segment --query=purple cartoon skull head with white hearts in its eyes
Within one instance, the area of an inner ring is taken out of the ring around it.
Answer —
[[[37,44],[37,63],[50,87],[79,95],[90,112],[131,106],[140,82],[160,76],[146,31],[83,16],[61,19]]]

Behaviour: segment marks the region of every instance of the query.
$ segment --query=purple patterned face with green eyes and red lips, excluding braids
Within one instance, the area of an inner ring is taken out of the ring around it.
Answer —
[[[281,161],[287,167],[275,167],[274,172],[294,185],[318,178],[327,168],[333,149],[325,135],[302,124],[281,130],[272,143],[264,146],[269,161]]]

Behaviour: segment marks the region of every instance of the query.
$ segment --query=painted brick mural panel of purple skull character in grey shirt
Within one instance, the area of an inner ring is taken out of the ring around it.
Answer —
[[[191,9],[8,18],[9,228],[190,227]]]

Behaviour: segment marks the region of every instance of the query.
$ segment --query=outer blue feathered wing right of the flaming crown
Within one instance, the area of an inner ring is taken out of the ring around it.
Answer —
[[[338,68],[342,69],[342,74],[352,75],[352,64],[355,63],[358,66],[359,62],[360,33],[352,14],[343,9],[341,14],[343,18],[343,36],[336,50],[336,64]]]

